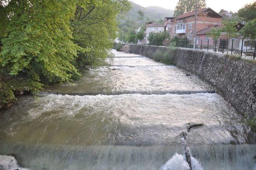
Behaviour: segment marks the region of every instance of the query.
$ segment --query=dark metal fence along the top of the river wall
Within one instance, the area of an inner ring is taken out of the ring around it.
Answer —
[[[222,54],[232,54],[253,60],[256,58],[256,39],[179,40],[177,46],[181,48],[207,50]]]

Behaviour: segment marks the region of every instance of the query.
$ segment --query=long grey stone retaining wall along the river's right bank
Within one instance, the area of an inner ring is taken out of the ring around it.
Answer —
[[[122,51],[152,58],[166,47],[126,44]],[[178,48],[176,66],[188,70],[212,84],[244,116],[256,116],[256,65],[226,58],[221,54]]]

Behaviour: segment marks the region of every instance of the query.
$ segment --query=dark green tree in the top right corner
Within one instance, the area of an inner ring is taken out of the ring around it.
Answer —
[[[256,18],[256,1],[252,4],[246,4],[243,8],[238,10],[238,16],[240,16],[245,22]]]

